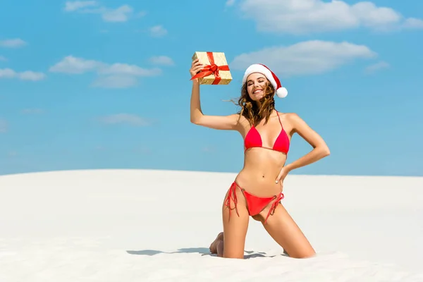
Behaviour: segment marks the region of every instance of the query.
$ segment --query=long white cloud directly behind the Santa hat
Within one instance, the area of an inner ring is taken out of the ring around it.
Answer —
[[[252,63],[264,63],[276,75],[287,77],[325,73],[355,59],[375,56],[376,53],[364,45],[314,40],[240,54],[233,59],[231,68],[245,70]]]

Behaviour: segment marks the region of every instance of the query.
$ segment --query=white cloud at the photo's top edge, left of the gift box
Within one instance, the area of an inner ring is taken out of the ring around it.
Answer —
[[[125,22],[133,16],[133,8],[129,5],[122,5],[118,8],[107,8],[106,6],[99,6],[97,1],[68,1],[66,2],[65,11],[78,13],[95,13],[102,16],[105,22]],[[145,12],[137,13],[141,16]]]

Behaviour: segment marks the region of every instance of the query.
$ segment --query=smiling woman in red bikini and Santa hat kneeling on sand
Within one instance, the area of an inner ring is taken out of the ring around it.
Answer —
[[[202,68],[198,59],[192,61],[191,76]],[[200,83],[196,78],[192,79],[191,122],[207,128],[237,130],[244,139],[244,167],[223,201],[223,233],[210,246],[219,257],[244,258],[249,216],[261,221],[290,257],[315,255],[313,247],[281,204],[283,180],[293,169],[329,156],[329,148],[297,114],[276,111],[274,94],[283,98],[288,92],[269,68],[253,64],[243,77],[238,101],[240,113],[207,116],[200,106]],[[292,164],[285,165],[294,133],[307,140],[313,149]]]

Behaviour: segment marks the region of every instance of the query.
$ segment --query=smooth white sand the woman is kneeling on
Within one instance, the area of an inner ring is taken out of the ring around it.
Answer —
[[[295,176],[283,204],[318,252],[291,259],[250,220],[245,256],[209,255],[234,173],[0,177],[0,281],[423,281],[423,178]]]

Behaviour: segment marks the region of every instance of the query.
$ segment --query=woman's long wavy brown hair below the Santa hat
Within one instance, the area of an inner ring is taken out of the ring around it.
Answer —
[[[241,107],[241,110],[238,112],[240,116],[244,116],[250,125],[256,125],[262,119],[265,119],[264,124],[269,121],[271,112],[275,109],[275,100],[274,100],[275,90],[271,83],[266,83],[266,88],[264,89],[264,96],[259,100],[260,106],[257,105],[255,101],[250,98],[247,90],[247,82],[244,83],[241,87],[241,96],[238,99],[238,103],[235,103],[237,106]]]

